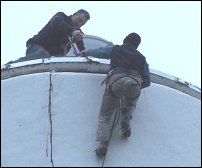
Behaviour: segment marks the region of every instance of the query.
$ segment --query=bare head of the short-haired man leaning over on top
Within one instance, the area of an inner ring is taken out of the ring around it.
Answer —
[[[72,15],[72,23],[73,25],[79,29],[80,27],[82,27],[88,20],[90,20],[90,15],[89,13],[84,10],[84,9],[80,9],[77,12],[75,12]]]

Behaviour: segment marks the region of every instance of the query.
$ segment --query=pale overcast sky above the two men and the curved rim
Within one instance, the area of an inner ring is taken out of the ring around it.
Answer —
[[[1,65],[24,56],[26,41],[55,13],[79,9],[91,15],[85,34],[122,44],[137,32],[150,68],[201,88],[200,1],[1,1]]]

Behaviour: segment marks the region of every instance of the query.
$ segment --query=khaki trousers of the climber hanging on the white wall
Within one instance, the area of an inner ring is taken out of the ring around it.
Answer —
[[[106,84],[105,93],[101,104],[97,141],[109,141],[111,131],[111,116],[122,101],[121,119],[132,119],[132,112],[141,93],[142,79],[138,73],[114,74]]]

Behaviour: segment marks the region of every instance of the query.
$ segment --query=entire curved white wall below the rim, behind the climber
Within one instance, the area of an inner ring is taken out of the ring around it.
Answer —
[[[54,166],[101,166],[94,150],[104,77],[46,72],[2,80],[1,166],[52,166],[51,158]],[[200,100],[152,83],[131,126],[123,139],[117,125],[104,166],[201,166]]]

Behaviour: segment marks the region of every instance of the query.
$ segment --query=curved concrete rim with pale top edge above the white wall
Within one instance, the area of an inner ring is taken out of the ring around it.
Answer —
[[[110,61],[94,57],[54,57],[1,66],[1,80],[40,72],[87,72],[106,74]],[[67,65],[68,64],[68,65]],[[201,89],[175,76],[150,68],[151,81],[185,92],[201,100]]]

